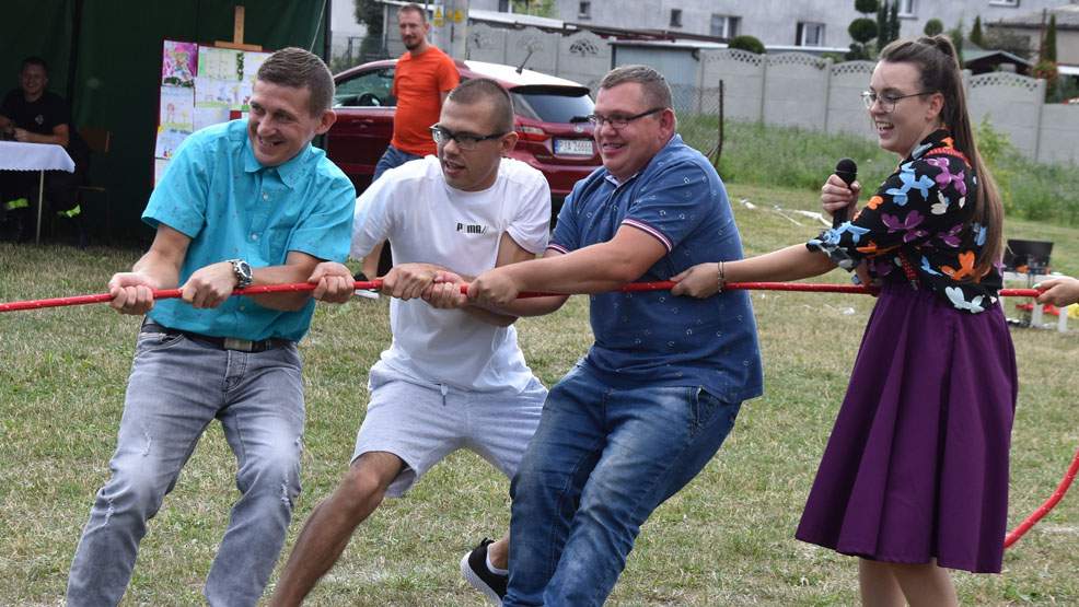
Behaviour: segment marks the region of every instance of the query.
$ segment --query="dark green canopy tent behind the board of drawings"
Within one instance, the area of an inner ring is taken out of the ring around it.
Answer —
[[[113,133],[107,186],[114,237],[152,236],[139,218],[153,188],[162,40],[231,42],[237,5],[244,5],[245,44],[265,50],[298,46],[328,56],[329,0],[4,3],[0,94],[19,86],[23,57],[39,56],[49,66],[48,89],[71,103],[74,126]],[[103,176],[95,171],[94,178]],[[88,208],[85,217],[100,232],[105,218],[95,217],[98,209]]]

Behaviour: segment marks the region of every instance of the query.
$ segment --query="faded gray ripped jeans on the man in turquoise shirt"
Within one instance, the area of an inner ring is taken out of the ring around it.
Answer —
[[[258,353],[197,339],[139,335],[112,478],[90,510],[68,576],[68,605],[116,605],[147,521],[176,486],[202,432],[221,420],[236,455],[229,527],[206,580],[210,605],[255,605],[269,582],[300,493],[303,362],[295,345]]]

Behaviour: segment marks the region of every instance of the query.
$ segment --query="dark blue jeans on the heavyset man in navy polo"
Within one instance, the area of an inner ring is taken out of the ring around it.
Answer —
[[[602,605],[641,524],[711,459],[740,406],[697,387],[618,389],[570,371],[510,486],[502,604]]]

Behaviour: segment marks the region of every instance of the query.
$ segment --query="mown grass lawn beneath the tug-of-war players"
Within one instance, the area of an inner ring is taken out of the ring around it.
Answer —
[[[809,191],[731,186],[749,255],[815,235],[786,213]],[[741,203],[749,200],[756,209]],[[1055,243],[1054,269],[1079,271],[1079,230],[1010,221],[1007,236]],[[0,302],[97,293],[135,249],[0,245]],[[817,281],[846,282],[839,270]],[[801,507],[873,305],[866,295],[755,292],[766,394],[747,401],[723,448],[642,528],[612,605],[851,605],[855,560],[793,539]],[[1012,302],[1013,303],[1013,302]],[[337,485],[368,399],[368,369],[390,342],[387,300],[320,304],[301,345],[308,427],[286,550]],[[1009,311],[1009,315],[1014,315]],[[1055,320],[1055,317],[1047,317]],[[1072,328],[1079,323],[1072,322]],[[68,567],[123,408],[138,319],[105,305],[0,314],[0,605],[62,602]],[[518,323],[525,357],[553,385],[591,343],[587,301]],[[1009,529],[1056,488],[1079,447],[1079,331],[1013,329],[1019,409]],[[234,459],[212,424],[142,542],[125,605],[199,605],[236,499]],[[310,605],[485,605],[457,573],[483,536],[504,533],[508,481],[457,453],[356,534]],[[964,604],[1079,604],[1079,494],[1005,555],[1002,575],[954,574]],[[283,559],[282,559],[283,560]],[[276,580],[276,574],[275,574]]]

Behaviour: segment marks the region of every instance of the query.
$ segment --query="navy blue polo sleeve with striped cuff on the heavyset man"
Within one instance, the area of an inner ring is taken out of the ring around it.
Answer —
[[[674,162],[642,185],[622,223],[651,234],[670,253],[716,203],[727,203],[718,182],[692,162]]]

